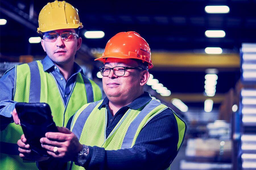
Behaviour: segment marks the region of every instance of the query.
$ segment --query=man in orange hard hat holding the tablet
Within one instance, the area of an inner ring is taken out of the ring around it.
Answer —
[[[71,131],[48,132],[40,139],[53,158],[39,167],[63,167],[61,160],[71,161],[68,169],[167,169],[186,124],[144,91],[153,67],[148,43],[136,32],[121,32],[95,60],[104,63],[100,73],[107,97],[82,106]]]

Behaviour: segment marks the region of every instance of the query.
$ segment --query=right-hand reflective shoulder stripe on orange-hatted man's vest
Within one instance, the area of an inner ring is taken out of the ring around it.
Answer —
[[[146,117],[146,115],[151,112],[153,109],[161,105],[161,103],[151,100],[144,109],[137,115],[137,117],[131,122],[129,128],[127,129],[127,132],[125,134],[125,137],[123,139],[123,144],[121,146],[121,149],[125,148],[131,148],[133,139],[135,137],[135,133],[137,129],[139,128],[139,125],[141,124],[142,120]]]

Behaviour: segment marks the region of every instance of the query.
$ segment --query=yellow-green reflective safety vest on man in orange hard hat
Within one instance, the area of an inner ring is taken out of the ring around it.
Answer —
[[[135,144],[142,128],[154,116],[168,109],[166,105],[156,100],[151,100],[137,110],[129,109],[117,123],[110,135],[106,137],[108,114],[106,108],[98,109],[101,103],[102,100],[88,103],[79,109],[73,117],[71,131],[78,137],[81,144],[103,147],[106,150],[131,148]],[[186,124],[173,110],[172,112],[178,125],[179,141],[177,148],[179,150],[184,139]],[[71,162],[68,164],[68,169],[84,168]]]

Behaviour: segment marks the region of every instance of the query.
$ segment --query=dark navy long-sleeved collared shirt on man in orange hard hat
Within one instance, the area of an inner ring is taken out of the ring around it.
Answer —
[[[151,100],[148,92],[122,107],[112,116],[109,100],[106,97],[99,108],[106,107],[108,122],[106,136],[117,125],[125,112],[139,109]],[[157,114],[139,133],[132,148],[105,150],[98,146],[89,146],[89,154],[84,165],[85,169],[166,169],[177,155],[179,139],[178,125],[171,109]],[[52,158],[46,162],[38,162],[39,169],[65,167],[63,162]]]

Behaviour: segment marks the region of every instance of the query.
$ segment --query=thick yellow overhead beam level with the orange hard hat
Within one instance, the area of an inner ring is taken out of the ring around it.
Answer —
[[[101,54],[95,54],[95,58]],[[168,70],[203,70],[216,68],[219,70],[238,70],[240,68],[239,54],[201,54],[152,52],[151,58],[154,71]]]

